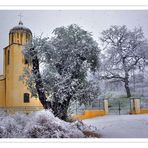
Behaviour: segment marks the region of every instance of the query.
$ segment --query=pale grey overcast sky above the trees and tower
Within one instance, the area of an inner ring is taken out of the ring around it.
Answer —
[[[78,24],[92,32],[98,41],[102,30],[111,25],[127,25],[130,29],[135,26],[143,27],[148,38],[148,11],[137,10],[1,10],[0,11],[0,74],[3,73],[3,48],[8,45],[9,30],[19,21],[22,13],[24,26],[30,28],[35,35],[43,33],[51,35],[53,29],[59,26]]]

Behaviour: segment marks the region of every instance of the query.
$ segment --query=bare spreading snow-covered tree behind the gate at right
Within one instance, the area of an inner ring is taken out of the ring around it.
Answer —
[[[142,28],[128,30],[126,26],[111,26],[102,32],[100,39],[105,49],[102,78],[122,81],[127,97],[131,97],[130,72],[142,67],[145,58],[146,40]]]

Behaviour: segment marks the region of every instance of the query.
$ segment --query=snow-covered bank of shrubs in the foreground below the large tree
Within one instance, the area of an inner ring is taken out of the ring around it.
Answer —
[[[1,119],[0,138],[85,138],[91,137],[86,132],[95,131],[80,121],[65,122],[55,117],[49,110],[41,110],[29,115],[7,114]]]

